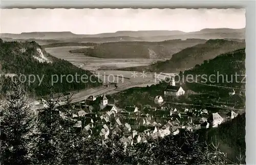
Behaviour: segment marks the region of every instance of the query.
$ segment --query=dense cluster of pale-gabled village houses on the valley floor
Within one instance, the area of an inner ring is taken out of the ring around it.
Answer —
[[[160,100],[160,101],[157,101]],[[224,121],[218,113],[209,113],[207,109],[188,109],[164,106],[161,96],[155,98],[156,107],[126,106],[118,108],[103,94],[99,97],[90,96],[84,101],[73,105],[73,119],[77,123],[77,132],[99,135],[108,140],[118,135],[126,145],[145,143],[162,139],[166,135],[176,135],[181,129],[193,131],[209,127],[218,127]],[[141,110],[142,109],[142,110]],[[238,114],[230,111],[226,120]],[[65,114],[60,116],[65,119]]]

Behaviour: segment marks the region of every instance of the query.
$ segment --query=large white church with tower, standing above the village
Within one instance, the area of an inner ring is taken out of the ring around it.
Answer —
[[[185,91],[180,86],[175,86],[175,80],[172,77],[170,85],[164,90],[164,97],[167,98],[176,98],[178,96],[184,95]]]

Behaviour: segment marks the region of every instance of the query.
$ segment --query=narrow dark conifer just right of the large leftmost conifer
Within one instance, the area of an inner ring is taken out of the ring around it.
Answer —
[[[37,115],[37,144],[34,150],[36,163],[56,164],[60,162],[60,124],[59,111],[56,108],[58,101],[53,98],[53,86],[47,85],[49,96],[45,99],[44,109]]]

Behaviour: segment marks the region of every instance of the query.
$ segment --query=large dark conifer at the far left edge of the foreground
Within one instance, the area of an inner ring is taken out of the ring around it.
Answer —
[[[12,82],[2,104],[1,162],[3,164],[30,164],[34,114],[23,86]]]

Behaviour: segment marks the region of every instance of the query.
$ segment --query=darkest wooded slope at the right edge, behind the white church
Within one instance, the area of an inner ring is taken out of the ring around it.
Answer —
[[[245,89],[246,79],[243,79],[245,77],[245,48],[220,54],[214,59],[205,60],[201,65],[196,65],[193,69],[184,71],[183,75],[186,76],[188,74],[194,75],[194,77],[196,75],[207,75],[206,80],[201,77],[197,78],[198,82],[206,81],[204,82],[206,85]],[[238,75],[237,78],[236,74]],[[215,76],[209,77],[209,75]],[[218,77],[218,75],[223,76]],[[190,84],[187,83],[187,85],[191,86]],[[198,90],[196,90],[196,87],[198,87]],[[202,91],[202,87],[199,84],[191,90]],[[225,88],[220,89],[224,90]]]

